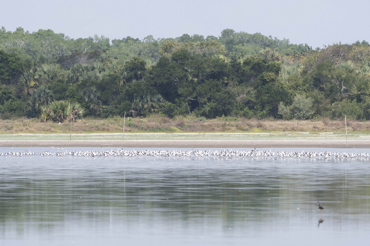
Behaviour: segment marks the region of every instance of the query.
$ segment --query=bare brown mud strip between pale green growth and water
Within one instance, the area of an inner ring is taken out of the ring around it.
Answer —
[[[123,147],[123,148],[370,148],[370,141],[0,141],[0,147]]]

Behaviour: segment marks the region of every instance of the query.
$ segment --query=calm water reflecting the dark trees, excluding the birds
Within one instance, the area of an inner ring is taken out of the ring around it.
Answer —
[[[0,245],[366,245],[369,231],[370,157],[0,156]]]

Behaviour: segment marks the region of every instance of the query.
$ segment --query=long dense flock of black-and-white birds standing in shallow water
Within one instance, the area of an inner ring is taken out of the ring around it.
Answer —
[[[52,147],[54,148],[54,147]],[[58,149],[65,149],[65,148],[58,148]],[[23,152],[7,152],[1,153],[0,156],[31,156],[31,155],[39,155],[39,156],[183,156],[183,157],[206,157],[206,156],[213,156],[213,157],[293,157],[293,158],[303,158],[303,157],[323,157],[323,158],[354,158],[354,157],[367,157],[369,156],[368,153],[345,153],[345,152],[293,152],[293,151],[276,151],[271,152],[271,150],[257,150],[256,148],[252,150],[245,150],[245,151],[238,151],[238,150],[227,150],[222,149],[221,151],[218,150],[124,150],[122,148],[118,148],[117,150],[91,150],[91,151],[67,151],[64,152],[58,150],[56,152],[50,151],[43,151],[39,153],[31,152],[25,150]]]

